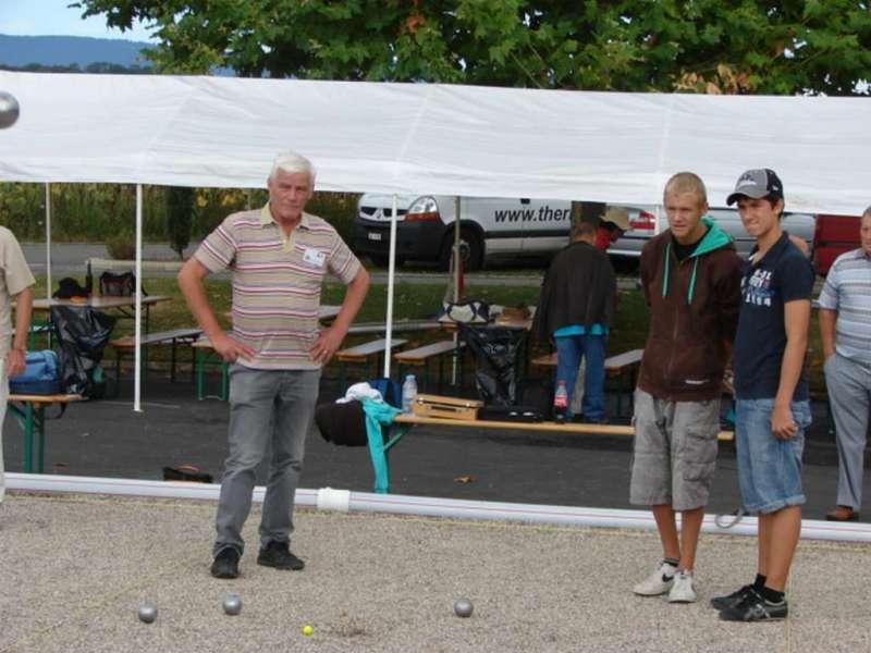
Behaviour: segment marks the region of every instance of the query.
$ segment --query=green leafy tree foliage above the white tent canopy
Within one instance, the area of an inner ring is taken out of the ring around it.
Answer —
[[[867,0],[79,0],[169,73],[854,95]]]

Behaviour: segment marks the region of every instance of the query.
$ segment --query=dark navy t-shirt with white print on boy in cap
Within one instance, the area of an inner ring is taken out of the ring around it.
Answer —
[[[810,261],[786,234],[762,260],[746,262],[733,362],[735,395],[739,399],[773,399],[777,394],[786,349],[784,304],[796,299],[809,300],[813,293],[813,278]],[[808,381],[802,366],[793,401],[807,398]]]

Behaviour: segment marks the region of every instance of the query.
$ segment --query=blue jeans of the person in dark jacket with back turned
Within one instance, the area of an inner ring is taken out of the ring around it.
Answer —
[[[556,382],[565,381],[568,405],[575,392],[575,381],[581,359],[587,361],[584,375],[581,412],[591,420],[605,416],[605,336],[562,335],[556,341]],[[567,417],[572,417],[571,414]]]

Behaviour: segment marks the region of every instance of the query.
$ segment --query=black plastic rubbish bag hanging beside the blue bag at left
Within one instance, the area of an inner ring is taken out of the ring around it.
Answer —
[[[51,325],[58,338],[62,392],[98,398],[96,377],[115,319],[88,306],[52,306]]]

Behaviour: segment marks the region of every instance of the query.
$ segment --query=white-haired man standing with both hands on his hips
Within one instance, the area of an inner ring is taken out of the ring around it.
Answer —
[[[211,574],[236,578],[242,527],[252,505],[255,470],[271,451],[257,564],[302,569],[290,551],[293,505],[318,396],[321,366],[347,333],[366,297],[369,275],[335,230],[306,213],[315,187],[308,159],[275,159],[269,204],[228,217],[179,273],[179,285],[216,352],[230,368],[230,427]],[[203,280],[233,271],[233,330],[214,318]],[[323,275],[347,284],[333,324],[318,330]]]

